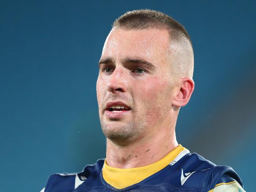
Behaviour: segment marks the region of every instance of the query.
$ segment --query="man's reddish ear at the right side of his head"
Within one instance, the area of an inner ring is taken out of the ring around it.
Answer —
[[[174,95],[172,105],[176,107],[183,107],[189,103],[189,99],[194,91],[194,81],[189,77],[183,77],[179,84],[180,89]]]

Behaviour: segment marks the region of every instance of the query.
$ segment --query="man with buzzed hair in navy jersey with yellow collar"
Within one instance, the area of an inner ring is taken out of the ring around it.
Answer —
[[[163,13],[127,12],[108,35],[97,80],[107,157],[77,174],[54,174],[45,192],[241,192],[239,176],[176,141],[179,109],[194,90],[185,28]]]

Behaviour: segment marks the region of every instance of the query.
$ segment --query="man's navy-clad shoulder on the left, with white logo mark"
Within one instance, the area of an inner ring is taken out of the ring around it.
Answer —
[[[87,179],[97,178],[100,175],[104,159],[99,159],[95,164],[87,165],[80,173],[55,173],[50,175],[44,192],[73,191]]]

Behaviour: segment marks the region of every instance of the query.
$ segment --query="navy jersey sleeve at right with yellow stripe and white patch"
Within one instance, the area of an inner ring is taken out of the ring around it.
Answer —
[[[207,185],[208,192],[245,192],[237,173],[229,166],[216,166]]]

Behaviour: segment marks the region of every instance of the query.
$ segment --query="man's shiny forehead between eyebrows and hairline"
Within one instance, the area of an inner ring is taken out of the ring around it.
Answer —
[[[161,62],[169,55],[170,37],[167,30],[116,28],[108,35],[101,58],[111,57],[118,60],[136,57],[149,62]]]

